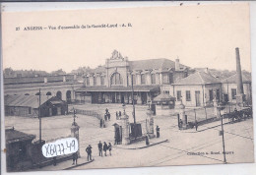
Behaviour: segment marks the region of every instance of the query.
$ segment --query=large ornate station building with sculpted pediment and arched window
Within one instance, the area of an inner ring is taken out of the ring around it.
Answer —
[[[129,61],[118,51],[85,75],[84,87],[76,89],[76,100],[89,103],[132,103],[132,87],[137,104],[145,104],[160,94],[163,88],[183,79],[192,70],[179,63],[160,58]],[[132,86],[133,84],[133,86]]]

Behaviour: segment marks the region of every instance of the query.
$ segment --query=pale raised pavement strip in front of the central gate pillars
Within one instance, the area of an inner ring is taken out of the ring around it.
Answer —
[[[167,142],[168,140],[166,139],[162,139],[162,138],[153,138],[150,139],[150,145],[149,146],[156,146],[159,145],[161,143]],[[115,148],[122,148],[122,149],[141,149],[141,148],[146,148],[149,147],[146,145],[146,141],[141,141],[138,143],[133,143],[130,145],[114,145],[113,147]]]

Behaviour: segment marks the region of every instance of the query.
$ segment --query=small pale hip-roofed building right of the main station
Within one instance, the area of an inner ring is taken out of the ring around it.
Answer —
[[[186,107],[202,107],[222,99],[222,83],[209,72],[196,72],[187,78],[180,79],[170,89],[176,100],[182,100]],[[170,93],[171,94],[171,93]]]

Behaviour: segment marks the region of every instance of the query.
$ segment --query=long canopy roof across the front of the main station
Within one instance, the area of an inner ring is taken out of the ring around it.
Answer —
[[[160,90],[159,86],[134,86],[134,91],[158,91]],[[78,92],[82,91],[132,91],[132,87],[121,87],[121,86],[98,86],[98,87],[81,87],[76,89]]]

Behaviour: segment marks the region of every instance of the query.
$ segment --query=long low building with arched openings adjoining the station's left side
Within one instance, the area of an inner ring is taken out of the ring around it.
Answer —
[[[75,101],[75,89],[82,86],[77,75],[4,78],[5,95],[35,95],[40,88],[42,95],[57,96],[68,103]]]

